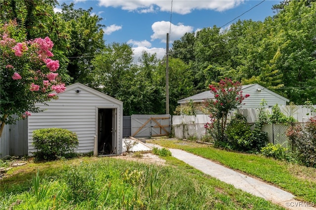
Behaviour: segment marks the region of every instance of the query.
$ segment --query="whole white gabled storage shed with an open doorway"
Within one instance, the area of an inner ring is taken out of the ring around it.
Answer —
[[[41,128],[64,128],[75,132],[79,153],[93,151],[98,155],[122,153],[123,103],[80,83],[66,87],[58,100],[37,105],[44,110],[28,118],[28,153],[33,131]]]

